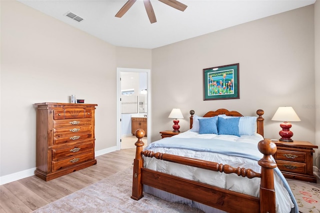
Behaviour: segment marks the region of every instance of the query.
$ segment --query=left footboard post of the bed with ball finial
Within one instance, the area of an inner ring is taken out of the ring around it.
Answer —
[[[142,184],[141,184],[141,168],[143,166],[143,158],[141,155],[142,146],[144,142],[142,141],[142,137],[144,136],[143,129],[137,129],[135,131],[135,136],[138,140],[134,143],[136,146],[135,149],[135,158],[133,161],[133,177],[132,177],[132,199],[138,200],[140,199],[142,194]]]

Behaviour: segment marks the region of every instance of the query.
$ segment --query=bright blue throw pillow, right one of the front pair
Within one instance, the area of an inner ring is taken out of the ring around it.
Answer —
[[[218,117],[218,122],[217,122],[218,134],[231,134],[231,135],[240,136],[239,120],[240,120],[240,117],[234,117],[234,118]]]

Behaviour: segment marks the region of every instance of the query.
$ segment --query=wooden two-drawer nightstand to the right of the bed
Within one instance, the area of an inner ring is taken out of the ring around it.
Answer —
[[[273,142],[277,149],[273,157],[284,177],[316,182],[316,177],[313,175],[313,148],[318,148],[317,145],[298,140]]]

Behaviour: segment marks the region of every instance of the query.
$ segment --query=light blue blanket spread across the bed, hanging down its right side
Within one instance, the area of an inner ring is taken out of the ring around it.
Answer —
[[[258,150],[257,144],[227,141],[221,139],[165,137],[161,140],[157,140],[150,143],[147,147],[144,148],[144,150],[155,147],[182,148],[194,151],[214,152],[230,156],[244,157],[256,161],[261,159],[263,156],[263,154]],[[291,212],[298,213],[299,210],[297,202],[285,177],[283,176],[278,167],[274,168],[273,170],[280,177],[284,187],[287,189],[289,195],[291,196],[291,199],[295,206],[291,210]]]

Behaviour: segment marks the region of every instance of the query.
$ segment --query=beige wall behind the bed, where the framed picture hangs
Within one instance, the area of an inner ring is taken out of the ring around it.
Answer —
[[[202,69],[237,62],[240,98],[204,101]],[[280,122],[270,119],[278,106],[292,106],[301,118],[292,122],[293,139],[314,143],[313,76],[313,5],[152,49],[151,139],[171,128],[167,116],[175,107],[185,117],[182,131],[190,109],[198,115],[217,108],[255,115],[261,108],[264,136],[279,138]]]

